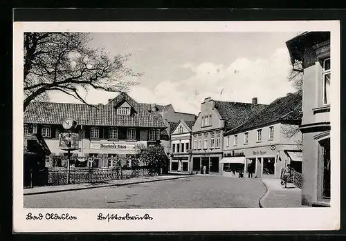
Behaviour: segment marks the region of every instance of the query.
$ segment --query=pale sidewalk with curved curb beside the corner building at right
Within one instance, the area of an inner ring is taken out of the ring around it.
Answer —
[[[260,199],[260,207],[286,208],[304,207],[302,205],[302,190],[292,183],[287,184],[287,189],[280,184],[280,179],[261,179],[266,186],[266,193]]]

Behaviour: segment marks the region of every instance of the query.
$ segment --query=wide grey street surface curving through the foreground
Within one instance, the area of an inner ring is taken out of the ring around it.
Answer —
[[[24,196],[25,208],[200,209],[258,208],[258,179],[192,176],[177,180]]]

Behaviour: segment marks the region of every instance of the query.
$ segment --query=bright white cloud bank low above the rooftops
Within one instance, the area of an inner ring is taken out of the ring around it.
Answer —
[[[129,95],[138,102],[172,104],[177,111],[198,114],[201,102],[206,97],[248,103],[257,97],[260,104],[269,104],[277,97],[295,91],[287,80],[289,53],[286,48],[276,49],[267,59],[239,58],[228,66],[206,61],[201,64],[186,62],[177,67],[178,70],[186,68],[192,71],[192,75],[182,78],[171,75],[170,79],[163,79],[154,88],[133,86]],[[86,101],[90,104],[106,104],[108,99],[116,95],[90,90]],[[53,95],[52,101],[55,100],[62,102],[61,95],[59,98]],[[69,97],[65,100],[78,102]]]

